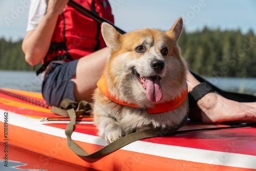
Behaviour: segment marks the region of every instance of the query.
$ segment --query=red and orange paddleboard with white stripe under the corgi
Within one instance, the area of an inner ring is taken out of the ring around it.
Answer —
[[[256,170],[255,126],[188,123],[171,136],[136,141],[103,158],[83,160],[67,145],[65,129],[69,118],[51,113],[50,108],[40,93],[1,89],[0,141],[39,154],[40,160],[50,157],[78,168]],[[106,145],[97,136],[92,117],[80,117],[77,121],[72,139],[83,149],[93,153]],[[3,151],[0,160],[5,161],[6,154]],[[8,157],[15,160],[13,155]],[[38,169],[47,168],[41,165]]]

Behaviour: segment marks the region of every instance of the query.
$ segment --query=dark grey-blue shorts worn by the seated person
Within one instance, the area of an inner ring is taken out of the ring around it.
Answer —
[[[66,98],[75,101],[74,82],[70,79],[76,73],[77,60],[63,64],[52,63],[51,71],[42,81],[42,96],[49,105],[59,106]]]

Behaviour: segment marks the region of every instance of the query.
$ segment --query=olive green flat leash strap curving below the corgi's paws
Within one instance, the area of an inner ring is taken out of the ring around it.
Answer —
[[[68,106],[70,106],[70,104]],[[186,114],[186,116],[183,118],[182,122],[175,127],[167,127],[166,129],[160,129],[160,128],[148,129],[148,130],[143,130],[140,132],[135,132],[135,133],[126,135],[124,137],[121,137],[120,139],[100,148],[98,151],[96,151],[92,154],[88,154],[86,151],[84,151],[83,148],[81,148],[77,143],[75,143],[71,139],[71,135],[74,131],[74,126],[76,124],[76,117],[77,117],[76,113],[77,113],[77,111],[74,108],[67,110],[67,114],[71,119],[71,121],[68,123],[66,130],[65,130],[65,134],[68,139],[68,146],[78,156],[88,157],[88,158],[104,157],[104,156],[109,155],[110,153],[116,151],[117,149],[122,148],[123,146],[130,144],[137,140],[171,135],[171,134],[175,133],[178,129],[180,129],[180,127],[185,125],[185,123],[187,121],[187,116],[188,116],[188,114]]]

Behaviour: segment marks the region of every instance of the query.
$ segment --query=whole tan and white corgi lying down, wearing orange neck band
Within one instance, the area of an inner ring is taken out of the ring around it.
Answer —
[[[182,27],[180,17],[166,32],[140,29],[121,35],[102,24],[110,54],[93,95],[93,114],[98,135],[106,142],[175,126],[186,116],[187,65],[177,45]]]

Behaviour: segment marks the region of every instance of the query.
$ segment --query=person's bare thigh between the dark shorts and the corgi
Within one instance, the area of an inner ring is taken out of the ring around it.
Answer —
[[[76,101],[92,102],[92,94],[102,75],[104,61],[108,53],[108,48],[103,48],[78,60],[76,74],[71,79],[75,83],[74,96]]]

